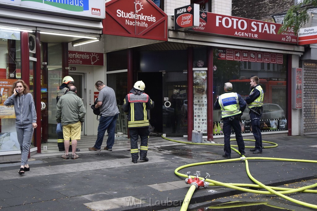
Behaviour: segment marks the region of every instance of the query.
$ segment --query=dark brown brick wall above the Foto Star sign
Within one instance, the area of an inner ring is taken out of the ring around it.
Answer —
[[[294,0],[232,0],[232,16],[274,22],[272,15],[287,11]]]

